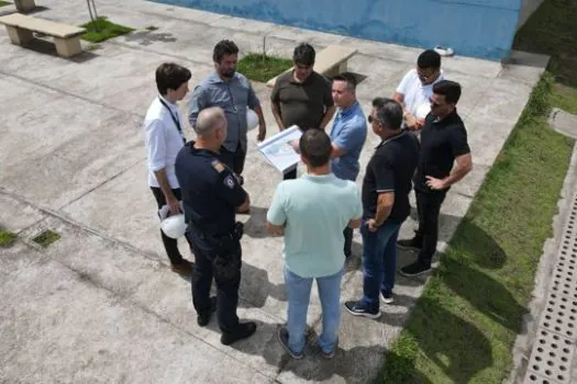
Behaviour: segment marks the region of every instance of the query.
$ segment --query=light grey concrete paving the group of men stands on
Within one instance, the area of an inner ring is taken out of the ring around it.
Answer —
[[[13,46],[0,32],[0,224],[20,238],[0,258],[0,382],[357,383],[377,375],[423,281],[398,276],[397,302],[378,321],[344,315],[334,360],[324,362],[311,350],[303,361],[289,361],[275,338],[286,317],[281,240],[266,237],[264,227],[281,178],[256,154],[254,132],[245,172],[253,207],[243,218],[240,315],[258,321],[258,330],[231,348],[220,345],[215,321],[197,327],[190,285],[169,271],[163,255],[141,123],[155,97],[155,68],[165,60],[181,63],[195,84],[211,71],[212,47],[221,38],[234,39],[244,54],[260,49],[266,35],[268,53],[287,57],[300,41],[319,49],[356,47],[349,68],[366,76],[358,87],[366,112],[374,97],[392,93],[421,50],[140,0],[99,0],[98,11],[138,31],[70,60],[55,56],[48,44]],[[69,0],[51,1],[37,15],[74,24],[89,19],[85,2]],[[149,25],[158,30],[144,30]],[[444,60],[446,76],[464,87],[458,110],[475,170],[443,205],[441,249],[547,61],[521,53],[514,58],[507,66],[458,56]],[[255,89],[273,133],[269,90],[256,83]],[[376,145],[369,135],[363,167]],[[62,239],[41,249],[31,239],[46,228]],[[401,235],[413,228],[410,219]],[[362,290],[356,236],[343,301]],[[401,253],[400,267],[414,257]],[[318,330],[313,295],[309,323]]]

